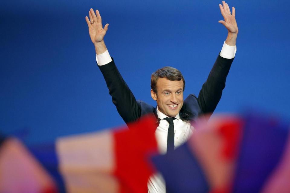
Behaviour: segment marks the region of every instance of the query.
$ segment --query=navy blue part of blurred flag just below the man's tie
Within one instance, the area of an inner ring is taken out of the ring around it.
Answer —
[[[209,191],[205,174],[187,145],[183,144],[172,153],[152,158],[169,188],[166,192]]]

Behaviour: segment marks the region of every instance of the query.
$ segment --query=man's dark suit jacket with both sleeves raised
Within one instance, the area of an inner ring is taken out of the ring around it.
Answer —
[[[184,120],[194,120],[199,115],[212,113],[221,99],[222,90],[225,87],[227,74],[234,59],[225,59],[218,55],[206,82],[202,85],[198,97],[190,94],[183,103],[180,117]],[[106,65],[99,66],[113,103],[126,123],[136,121],[141,116],[154,113],[156,107],[141,100],[136,101],[133,93],[127,86],[118,71],[114,60]],[[149,82],[149,80],[148,80]]]

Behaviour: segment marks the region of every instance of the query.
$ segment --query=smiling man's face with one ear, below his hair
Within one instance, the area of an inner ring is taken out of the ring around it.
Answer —
[[[156,87],[157,93],[151,89],[151,97],[157,101],[159,111],[169,117],[175,117],[183,105],[183,81],[159,78]]]

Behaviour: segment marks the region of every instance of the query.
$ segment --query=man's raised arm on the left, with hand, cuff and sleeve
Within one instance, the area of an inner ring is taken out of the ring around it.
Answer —
[[[85,20],[89,27],[92,43],[95,45],[96,54],[101,56],[103,60],[108,61],[102,62],[102,64],[98,62],[98,67],[105,78],[112,101],[126,123],[136,121],[141,116],[140,105],[138,105],[133,93],[108,54],[104,43],[104,36],[109,24],[106,24],[104,28],[102,27],[101,15],[98,10],[94,12],[93,9],[90,9],[89,17],[90,19],[85,17]]]

